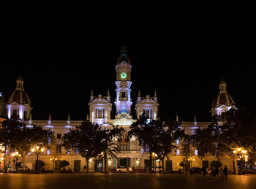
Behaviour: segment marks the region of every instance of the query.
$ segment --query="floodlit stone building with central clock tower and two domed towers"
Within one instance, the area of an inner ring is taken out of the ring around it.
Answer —
[[[97,123],[102,127],[122,126],[125,133],[113,142],[116,142],[120,153],[117,154],[117,158],[111,158],[108,156],[108,168],[116,169],[118,166],[131,166],[134,169],[146,169],[149,163],[149,154],[146,149],[142,149],[138,145],[138,141],[135,137],[128,139],[127,132],[129,126],[134,123],[140,115],[145,111],[148,119],[156,120],[158,116],[158,101],[157,92],[154,91],[154,96],[140,96],[138,91],[138,98],[135,104],[136,117],[131,115],[132,99],[131,99],[131,86],[132,86],[132,66],[127,55],[126,47],[121,47],[121,53],[116,63],[116,99],[114,105],[116,106],[116,115],[114,119],[111,119],[110,112],[112,111],[112,101],[110,99],[110,92],[107,92],[107,96],[101,94],[94,96],[93,90],[91,90],[91,96],[89,97],[89,115],[86,117],[91,123]],[[39,159],[44,161],[46,169],[52,169],[52,162],[50,158],[56,157],[58,160],[69,161],[69,167],[73,171],[85,171],[83,167],[86,165],[85,158],[82,158],[78,152],[68,152],[61,147],[61,137],[69,130],[69,128],[75,128],[79,126],[82,120],[70,120],[70,116],[67,115],[67,120],[51,120],[49,115],[48,120],[32,120],[31,118],[31,104],[29,96],[26,94],[23,88],[23,79],[18,78],[17,87],[10,96],[9,101],[6,104],[7,117],[11,115],[19,115],[20,119],[27,123],[27,126],[31,124],[42,126],[43,128],[50,128],[56,135],[55,147],[45,150]],[[1,101],[0,101],[1,103]],[[224,81],[219,84],[219,93],[214,99],[212,104],[212,114],[220,114],[225,112],[230,107],[234,107],[235,102],[232,97],[227,93],[226,83]],[[176,117],[178,120],[178,116]],[[209,122],[197,122],[196,117],[192,122],[181,122],[181,128],[185,129],[185,134],[193,134],[195,128],[206,128]],[[183,161],[184,156],[181,154],[182,142],[177,141],[178,149],[173,151],[169,155],[169,159],[165,161],[165,171],[172,171],[182,169],[180,163]],[[7,151],[7,153],[10,153]],[[206,156],[206,158],[198,158],[197,150],[192,147],[192,153],[190,156],[195,159],[192,162],[192,166],[209,168],[211,161],[216,160],[212,156]],[[7,155],[6,155],[7,156]],[[29,153],[26,157],[27,165],[33,165],[35,162],[35,155]],[[228,169],[233,169],[233,162],[227,158],[219,158],[224,165],[227,165]],[[11,161],[12,162],[12,161]],[[159,165],[159,161],[156,160]],[[58,166],[56,166],[58,167]],[[102,161],[97,158],[91,158],[89,160],[89,171],[102,171]]]

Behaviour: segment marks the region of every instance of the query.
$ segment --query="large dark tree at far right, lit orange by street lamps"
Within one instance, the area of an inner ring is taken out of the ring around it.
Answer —
[[[230,109],[222,115],[214,115],[211,124],[204,129],[197,129],[194,135],[194,144],[198,155],[204,157],[206,153],[216,157],[225,156],[233,159],[233,169],[238,172],[236,162],[238,156],[233,153],[238,147],[245,149],[249,154],[256,149],[255,115],[246,107]]]

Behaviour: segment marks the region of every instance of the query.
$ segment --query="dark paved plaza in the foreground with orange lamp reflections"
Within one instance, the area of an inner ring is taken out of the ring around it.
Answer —
[[[0,188],[256,188],[256,175],[221,181],[200,174],[0,174]]]

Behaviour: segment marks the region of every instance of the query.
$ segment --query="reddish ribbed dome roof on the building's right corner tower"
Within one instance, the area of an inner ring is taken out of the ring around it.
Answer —
[[[235,101],[232,99],[229,93],[227,93],[226,82],[223,80],[219,83],[219,94],[215,97],[212,107],[220,107],[226,105],[227,107],[235,105]]]

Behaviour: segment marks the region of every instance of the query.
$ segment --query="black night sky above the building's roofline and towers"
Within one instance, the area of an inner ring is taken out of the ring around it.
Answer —
[[[52,120],[66,120],[68,114],[83,120],[91,89],[103,96],[110,90],[115,100],[115,66],[125,45],[134,104],[138,90],[142,96],[157,90],[159,110],[170,117],[210,120],[223,78],[236,107],[255,111],[255,1],[114,5],[3,3],[0,90],[5,99],[21,75],[33,119],[48,120],[50,113]]]

